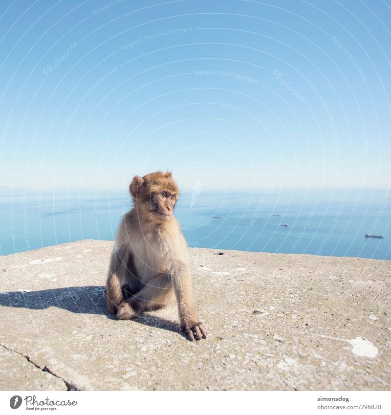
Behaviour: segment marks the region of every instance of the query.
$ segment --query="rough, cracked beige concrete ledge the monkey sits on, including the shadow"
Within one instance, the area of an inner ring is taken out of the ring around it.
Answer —
[[[113,242],[0,257],[1,390],[389,390],[391,262],[191,248],[208,338],[118,321]]]

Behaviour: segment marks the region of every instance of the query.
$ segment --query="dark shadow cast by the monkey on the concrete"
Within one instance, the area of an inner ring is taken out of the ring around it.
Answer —
[[[117,320],[106,307],[103,297],[104,286],[87,285],[81,287],[53,288],[41,291],[9,291],[0,293],[0,306],[43,310],[58,307],[78,314],[104,314]],[[133,320],[146,326],[179,332],[179,324],[152,314],[142,314]],[[120,323],[120,321],[119,321]]]

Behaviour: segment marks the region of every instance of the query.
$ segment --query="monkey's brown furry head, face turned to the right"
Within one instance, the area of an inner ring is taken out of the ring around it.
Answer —
[[[155,222],[173,217],[179,190],[171,172],[134,176],[129,190],[139,215]]]

